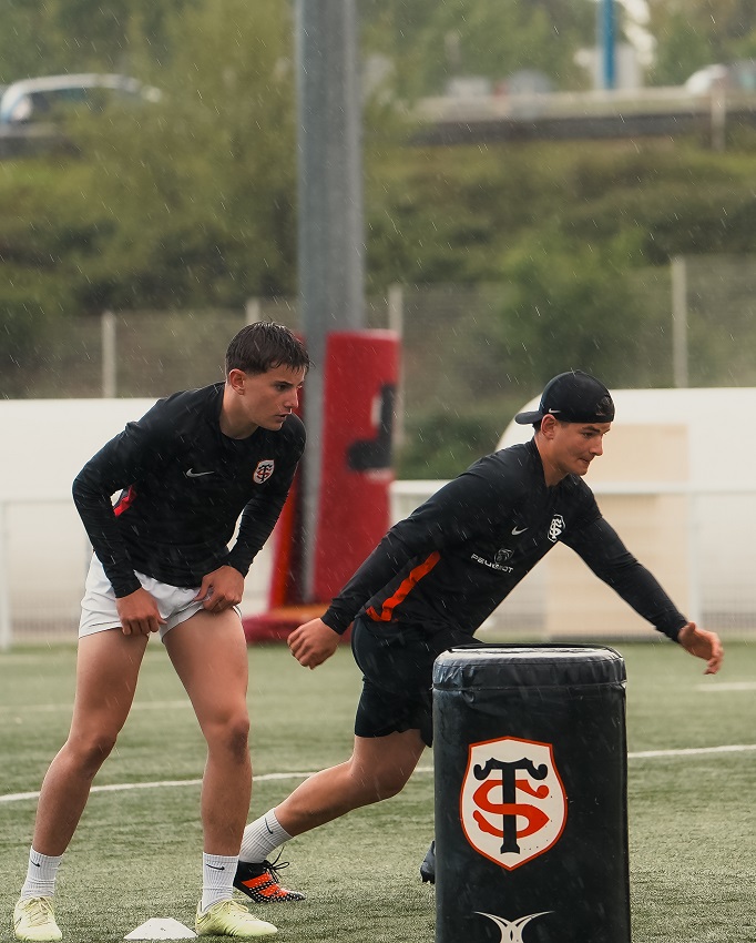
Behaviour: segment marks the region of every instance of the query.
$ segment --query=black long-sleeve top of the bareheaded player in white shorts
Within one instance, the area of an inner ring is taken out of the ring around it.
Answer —
[[[160,399],[76,476],[73,499],[116,597],[140,588],[134,570],[186,588],[225,564],[246,576],[269,537],[305,429],[292,415],[279,432],[232,439],[219,426],[223,392]]]

